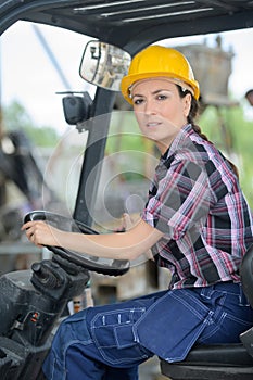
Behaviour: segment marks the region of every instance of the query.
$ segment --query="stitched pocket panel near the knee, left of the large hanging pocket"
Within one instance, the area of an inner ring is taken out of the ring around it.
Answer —
[[[136,342],[132,326],[144,308],[115,309],[99,313],[91,321],[91,335],[100,354],[109,365],[139,364],[148,358]]]

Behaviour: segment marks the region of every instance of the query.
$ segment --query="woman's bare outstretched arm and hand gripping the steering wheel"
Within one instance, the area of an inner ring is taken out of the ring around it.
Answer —
[[[26,231],[27,238],[38,246],[61,246],[97,257],[130,261],[146,253],[163,236],[143,220],[123,233],[65,232],[43,221],[28,221],[22,229]]]

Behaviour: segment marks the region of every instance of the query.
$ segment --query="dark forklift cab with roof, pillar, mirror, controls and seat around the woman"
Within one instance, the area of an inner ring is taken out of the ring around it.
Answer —
[[[124,74],[122,67],[127,67],[138,51],[164,39],[250,28],[253,26],[253,3],[250,0],[0,0],[0,33],[18,20],[69,29],[96,39],[87,46],[80,65],[81,77],[97,86],[93,100],[88,93],[63,99],[67,123],[76,125],[79,131],[88,130],[73,219],[48,212],[34,212],[27,218],[42,218],[58,227],[97,233],[91,229],[92,208],[98,194],[110,113],[115,106],[116,91]],[[97,75],[92,65],[89,66],[91,62],[97,65]],[[99,64],[103,72],[99,71]],[[96,119],[101,115],[103,123],[98,125]],[[67,300],[87,284],[89,270],[119,276],[128,268],[127,262],[81,259],[78,254],[54,250],[53,261],[35,263],[33,274],[5,275],[0,304],[1,316],[5,315],[0,330],[1,379],[39,379],[39,369],[51,339],[51,329],[46,329],[46,322],[54,326]],[[252,249],[243,259],[241,275],[245,294],[253,306]],[[37,314],[41,295],[43,313]],[[24,297],[25,302],[21,301]],[[17,313],[16,305],[20,309],[27,308],[25,317]],[[162,360],[162,373],[173,380],[250,380],[253,378],[252,329],[242,334],[241,344],[195,346],[185,362],[168,364]],[[30,363],[33,368],[28,365]]]

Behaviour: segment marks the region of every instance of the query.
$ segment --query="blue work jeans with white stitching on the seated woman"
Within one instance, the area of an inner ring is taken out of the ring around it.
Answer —
[[[63,321],[43,364],[48,380],[138,380],[154,354],[184,360],[192,345],[239,342],[253,325],[240,284],[167,290],[90,307]]]

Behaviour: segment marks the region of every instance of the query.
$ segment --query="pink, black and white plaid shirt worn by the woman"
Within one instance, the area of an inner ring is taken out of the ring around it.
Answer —
[[[240,281],[252,215],[229,162],[191,125],[161,157],[142,218],[164,232],[152,250],[172,288]]]

